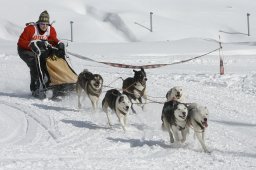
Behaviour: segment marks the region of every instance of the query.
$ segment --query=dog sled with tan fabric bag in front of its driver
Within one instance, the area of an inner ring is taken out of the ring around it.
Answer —
[[[44,45],[40,45],[41,41],[33,42],[38,50],[36,63],[40,85],[37,97],[55,99],[68,95],[75,90],[78,76],[67,62],[65,52],[44,42]]]

